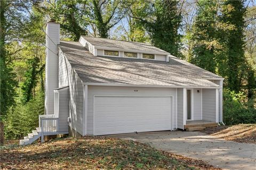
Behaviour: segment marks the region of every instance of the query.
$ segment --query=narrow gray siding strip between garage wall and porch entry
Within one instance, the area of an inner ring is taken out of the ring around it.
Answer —
[[[177,114],[178,128],[183,129],[183,88],[177,89]]]

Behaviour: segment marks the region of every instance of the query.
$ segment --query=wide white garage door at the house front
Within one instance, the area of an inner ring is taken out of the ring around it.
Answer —
[[[171,130],[171,96],[95,96],[94,135]]]

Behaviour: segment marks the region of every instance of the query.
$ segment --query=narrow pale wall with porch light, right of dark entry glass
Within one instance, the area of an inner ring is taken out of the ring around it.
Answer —
[[[199,90],[199,92],[197,92]],[[201,120],[202,114],[202,89],[194,89],[194,120]]]

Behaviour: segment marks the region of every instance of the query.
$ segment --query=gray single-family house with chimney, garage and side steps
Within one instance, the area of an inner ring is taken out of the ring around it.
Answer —
[[[223,78],[149,44],[81,36],[46,26],[45,115],[20,141],[50,134],[185,130],[222,122]],[[43,138],[42,138],[43,141]]]

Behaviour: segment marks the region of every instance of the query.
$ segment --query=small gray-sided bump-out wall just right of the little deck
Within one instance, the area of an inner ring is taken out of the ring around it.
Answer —
[[[59,131],[68,132],[69,90],[59,92]]]

